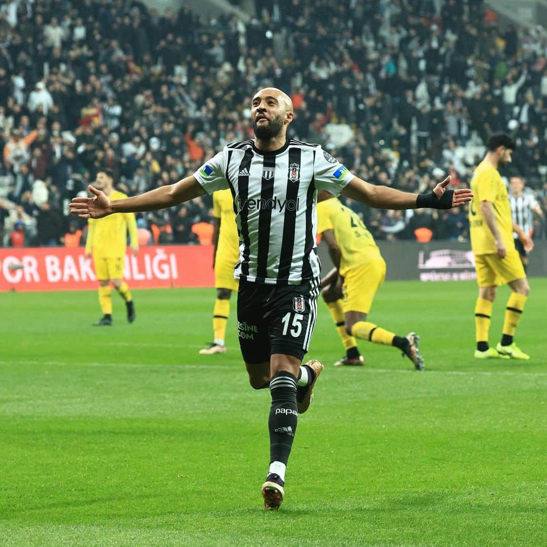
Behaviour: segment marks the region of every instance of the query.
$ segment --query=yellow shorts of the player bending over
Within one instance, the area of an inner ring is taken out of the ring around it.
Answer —
[[[348,311],[368,313],[373,305],[374,295],[382,286],[385,277],[386,263],[383,258],[376,258],[348,270],[342,285],[344,313]]]

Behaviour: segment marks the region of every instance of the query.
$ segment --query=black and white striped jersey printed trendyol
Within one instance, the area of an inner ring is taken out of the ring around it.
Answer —
[[[339,195],[353,175],[319,144],[287,140],[275,152],[228,144],[194,173],[208,194],[234,197],[240,260],[235,277],[299,284],[319,276],[317,190]]]

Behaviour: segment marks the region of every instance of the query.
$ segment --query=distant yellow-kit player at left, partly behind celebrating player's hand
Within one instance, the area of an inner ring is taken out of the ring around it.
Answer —
[[[113,200],[122,200],[127,196],[114,190],[114,177],[111,171],[103,169],[97,173],[95,185]],[[118,290],[127,307],[127,321],[135,321],[135,305],[131,292],[124,281],[124,257],[129,232],[130,246],[137,254],[137,222],[135,213],[124,213],[108,218],[89,219],[88,238],[85,242],[85,254],[93,255],[95,275],[99,282],[99,304],[103,316],[94,323],[96,327],[112,325],[112,289]]]

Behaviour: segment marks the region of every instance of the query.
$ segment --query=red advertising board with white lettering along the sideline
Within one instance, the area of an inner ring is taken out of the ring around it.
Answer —
[[[125,255],[131,288],[212,287],[212,246],[141,247]],[[0,291],[95,289],[93,260],[83,247],[0,249]]]

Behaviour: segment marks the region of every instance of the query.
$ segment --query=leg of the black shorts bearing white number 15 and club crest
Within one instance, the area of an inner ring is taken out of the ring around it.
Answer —
[[[275,287],[267,300],[265,315],[272,354],[302,360],[310,347],[319,292],[319,280]]]

